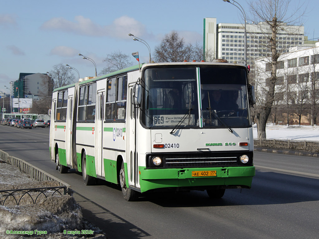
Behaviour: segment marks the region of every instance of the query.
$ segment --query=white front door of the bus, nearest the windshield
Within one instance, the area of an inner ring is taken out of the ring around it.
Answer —
[[[126,162],[129,185],[139,188],[138,179],[138,162],[137,162],[137,108],[132,104],[133,91],[135,85],[129,87],[130,99],[127,103],[126,112]],[[125,163],[125,162],[124,162]]]

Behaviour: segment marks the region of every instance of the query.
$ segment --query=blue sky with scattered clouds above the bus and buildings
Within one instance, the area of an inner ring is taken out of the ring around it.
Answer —
[[[249,4],[237,2],[249,16]],[[319,39],[317,1],[291,0],[288,14],[300,2],[306,9],[305,35]],[[4,86],[10,88],[20,73],[46,73],[60,63],[77,69],[81,78],[94,76],[94,64],[79,53],[93,59],[98,75],[106,67],[103,59],[115,51],[130,56],[138,51],[140,62],[148,62],[147,47],[129,33],[145,40],[151,55],[172,31],[185,43],[202,45],[203,19],[209,17],[217,23],[243,22],[238,8],[223,0],[0,0],[0,91],[10,93]],[[133,56],[132,63],[137,63]]]

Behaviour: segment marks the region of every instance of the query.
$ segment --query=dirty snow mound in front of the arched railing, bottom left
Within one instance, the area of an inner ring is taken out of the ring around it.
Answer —
[[[83,229],[82,212],[70,195],[53,196],[36,204],[0,206],[0,232],[47,231],[48,234],[63,230]],[[7,235],[4,238],[15,238]]]

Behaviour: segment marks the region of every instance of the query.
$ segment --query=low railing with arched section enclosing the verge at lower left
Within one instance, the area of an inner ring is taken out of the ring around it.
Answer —
[[[48,196],[73,194],[71,186],[62,180],[48,174],[47,172],[33,166],[32,164],[10,156],[8,153],[0,149],[0,159],[17,166],[21,171],[30,176],[31,179],[41,181],[56,181],[59,186],[56,187],[38,187],[25,189],[0,190],[0,205],[4,205],[6,201],[11,201],[19,205],[22,200],[27,200],[28,203],[36,203],[40,198]]]

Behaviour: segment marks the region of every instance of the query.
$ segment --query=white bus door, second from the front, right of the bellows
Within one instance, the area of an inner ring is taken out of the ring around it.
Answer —
[[[105,177],[103,162],[103,115],[104,115],[104,95],[105,92],[98,92],[95,108],[95,165],[96,174]]]

